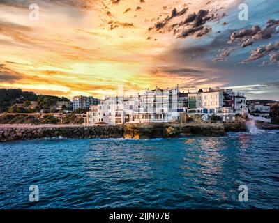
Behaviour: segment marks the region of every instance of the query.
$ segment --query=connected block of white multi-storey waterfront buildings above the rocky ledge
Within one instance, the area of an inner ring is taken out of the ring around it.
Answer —
[[[119,125],[123,123],[185,122],[187,114],[235,114],[246,112],[246,98],[227,89],[202,89],[181,93],[174,89],[145,89],[138,95],[107,97],[91,105],[86,123]]]

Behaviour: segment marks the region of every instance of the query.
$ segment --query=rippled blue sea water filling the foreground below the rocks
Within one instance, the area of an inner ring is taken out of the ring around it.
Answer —
[[[278,145],[279,131],[0,144],[0,208],[279,208]]]

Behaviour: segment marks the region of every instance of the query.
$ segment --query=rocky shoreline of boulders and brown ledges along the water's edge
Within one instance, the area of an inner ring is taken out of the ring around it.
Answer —
[[[279,125],[257,123],[265,130],[279,129]],[[0,126],[0,142],[64,137],[69,139],[153,139],[202,135],[222,137],[227,132],[245,132],[245,122],[234,123],[147,123],[116,126]]]

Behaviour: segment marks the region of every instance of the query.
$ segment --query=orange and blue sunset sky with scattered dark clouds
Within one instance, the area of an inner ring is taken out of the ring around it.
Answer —
[[[279,100],[278,0],[0,0],[0,88],[102,97],[118,84]]]

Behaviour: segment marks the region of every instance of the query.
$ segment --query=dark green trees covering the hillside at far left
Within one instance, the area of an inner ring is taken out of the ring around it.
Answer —
[[[31,101],[38,102],[38,108],[50,110],[56,102],[70,102],[68,98],[59,98],[52,95],[36,95],[32,91],[22,91],[22,89],[0,89],[0,112],[28,112],[23,107],[31,105]],[[23,107],[17,107],[15,104],[23,104]],[[9,110],[10,109],[10,110]]]

